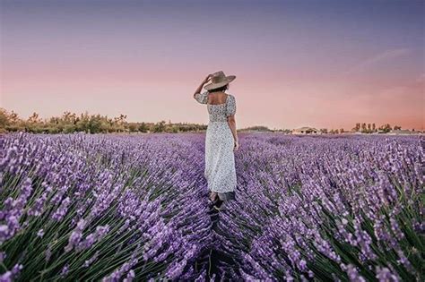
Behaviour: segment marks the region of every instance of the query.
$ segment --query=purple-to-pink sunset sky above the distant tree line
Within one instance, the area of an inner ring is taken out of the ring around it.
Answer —
[[[0,107],[207,124],[193,94],[223,71],[239,128],[423,130],[424,18],[419,0],[0,0]]]

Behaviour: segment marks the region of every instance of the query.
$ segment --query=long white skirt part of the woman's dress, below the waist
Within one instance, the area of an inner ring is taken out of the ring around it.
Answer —
[[[236,168],[234,140],[228,122],[210,121],[205,135],[204,176],[208,190],[218,192],[221,200],[234,199]]]

